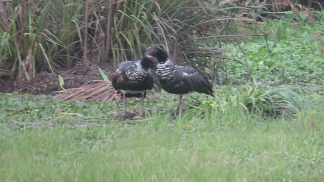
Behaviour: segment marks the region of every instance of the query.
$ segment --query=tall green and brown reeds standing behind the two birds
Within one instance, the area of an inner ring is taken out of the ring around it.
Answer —
[[[233,70],[224,63],[229,59],[224,55],[226,44],[237,42],[240,47],[240,40],[248,36],[262,38],[272,32],[260,29],[259,21],[313,21],[320,17],[321,7],[318,1],[289,0],[2,1],[0,77],[19,78],[13,84],[2,83],[3,87],[50,93],[60,89],[59,73],[86,82],[98,75],[91,64],[109,74],[113,66],[141,57],[147,45],[158,43],[165,45],[176,63],[208,72],[218,83],[218,70]],[[69,70],[60,72],[66,68]],[[49,90],[33,82],[29,82],[32,86],[25,84],[33,79],[49,85]],[[70,87],[82,83],[72,80]]]

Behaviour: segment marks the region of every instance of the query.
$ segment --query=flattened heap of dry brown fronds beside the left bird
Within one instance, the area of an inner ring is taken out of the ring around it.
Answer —
[[[121,93],[112,87],[110,81],[91,80],[78,88],[70,88],[56,93],[64,92],[58,96],[59,101],[121,101]],[[153,96],[146,96],[148,100],[158,101],[159,99]]]

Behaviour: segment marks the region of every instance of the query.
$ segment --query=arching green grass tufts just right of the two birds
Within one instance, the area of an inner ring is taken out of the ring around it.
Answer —
[[[224,113],[228,109],[243,109],[265,118],[276,118],[295,117],[315,109],[311,104],[313,98],[305,98],[289,87],[269,88],[255,81],[251,85],[239,85],[237,88],[225,86],[215,87],[215,89],[218,93],[212,100],[207,100],[204,96],[191,95],[188,112],[194,112],[192,116],[205,117],[211,112]],[[224,89],[227,89],[225,93]],[[323,104],[323,102],[317,102],[319,105],[320,103]]]

